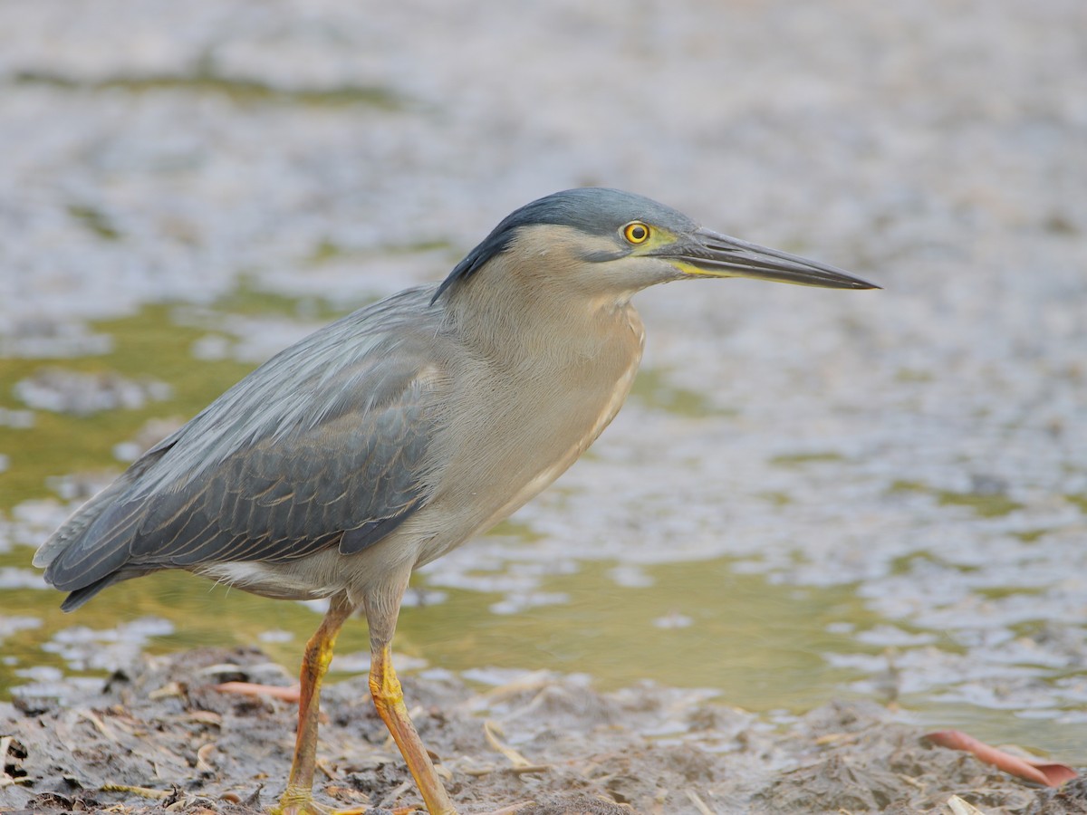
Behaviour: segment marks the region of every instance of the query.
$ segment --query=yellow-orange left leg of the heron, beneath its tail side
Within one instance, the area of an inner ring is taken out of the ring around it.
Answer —
[[[313,802],[313,773],[317,766],[317,718],[321,712],[321,682],[333,660],[336,635],[353,609],[346,600],[333,599],[321,626],[305,643],[298,698],[298,737],[295,761],[290,765],[287,789],[274,807],[274,815],[320,813],[324,807]]]

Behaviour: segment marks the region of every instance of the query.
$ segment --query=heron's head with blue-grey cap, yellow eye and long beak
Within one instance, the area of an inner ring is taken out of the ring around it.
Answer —
[[[879,288],[834,266],[705,229],[649,198],[601,188],[555,192],[507,215],[453,268],[435,300],[492,263],[540,283],[559,278],[570,289],[620,299],[653,284],[704,277]]]

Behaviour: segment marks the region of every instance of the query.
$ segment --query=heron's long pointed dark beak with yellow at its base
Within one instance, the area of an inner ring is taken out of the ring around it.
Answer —
[[[751,277],[827,289],[878,289],[840,268],[799,255],[697,229],[658,252],[684,274],[703,277]]]

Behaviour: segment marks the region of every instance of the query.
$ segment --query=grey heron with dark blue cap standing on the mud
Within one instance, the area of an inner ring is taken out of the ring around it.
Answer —
[[[370,688],[430,815],[450,815],[408,717],[390,643],[412,570],[510,515],[614,418],[645,331],[630,298],[752,277],[877,288],[611,189],[507,216],[440,285],[322,328],[151,448],[41,547],[83,605],[182,568],[268,598],[327,598],[302,659],[295,758],[277,812],[312,799],[322,678],[345,620],[370,626]]]

